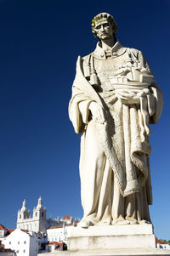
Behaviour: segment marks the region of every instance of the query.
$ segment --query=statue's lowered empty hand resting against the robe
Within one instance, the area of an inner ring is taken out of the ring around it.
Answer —
[[[89,105],[89,110],[91,111],[92,116],[97,120],[97,122],[105,122],[104,109],[98,103],[92,101]]]

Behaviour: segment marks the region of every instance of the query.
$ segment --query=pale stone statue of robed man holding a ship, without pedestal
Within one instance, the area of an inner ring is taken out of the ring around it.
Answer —
[[[116,21],[92,20],[99,39],[77,60],[69,115],[81,133],[83,218],[79,225],[150,223],[150,123],[162,111],[161,89],[144,55],[116,38]]]

